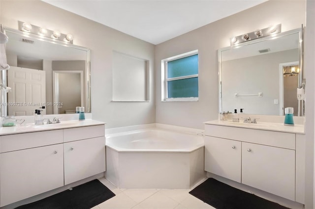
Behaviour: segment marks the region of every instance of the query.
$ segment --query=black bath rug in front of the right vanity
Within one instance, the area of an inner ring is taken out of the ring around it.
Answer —
[[[288,209],[213,178],[207,179],[189,193],[216,209]]]

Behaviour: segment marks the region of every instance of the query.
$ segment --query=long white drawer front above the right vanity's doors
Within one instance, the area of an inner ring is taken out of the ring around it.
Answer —
[[[295,150],[295,133],[205,125],[205,134],[208,136]]]

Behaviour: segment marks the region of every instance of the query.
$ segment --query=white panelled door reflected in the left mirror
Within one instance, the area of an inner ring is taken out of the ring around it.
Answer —
[[[8,73],[8,115],[33,115],[46,103],[46,72],[11,66]]]

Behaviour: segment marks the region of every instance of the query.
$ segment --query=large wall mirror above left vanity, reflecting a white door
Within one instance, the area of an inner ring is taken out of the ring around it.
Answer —
[[[2,116],[75,113],[76,106],[91,112],[90,50],[62,41],[4,28],[9,37],[3,76],[11,88],[3,95]],[[5,110],[5,111],[3,111]]]

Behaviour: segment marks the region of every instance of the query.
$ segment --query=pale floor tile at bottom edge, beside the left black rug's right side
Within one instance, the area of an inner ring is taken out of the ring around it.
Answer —
[[[121,192],[115,197],[112,197],[105,202],[99,204],[98,207],[100,209],[131,209],[135,205],[137,205],[137,203],[134,200]]]

